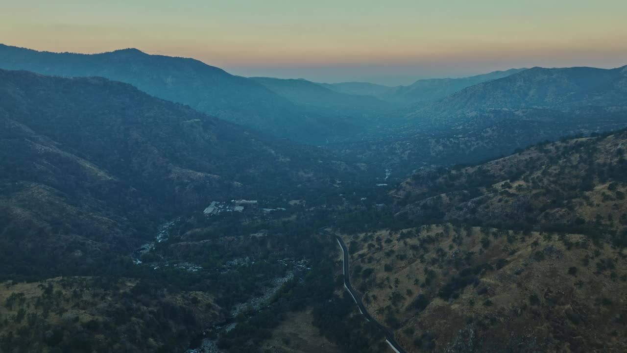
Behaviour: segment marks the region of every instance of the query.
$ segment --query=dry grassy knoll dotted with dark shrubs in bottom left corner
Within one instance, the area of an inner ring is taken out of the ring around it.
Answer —
[[[171,352],[223,320],[203,292],[137,280],[54,278],[0,286],[0,352]]]

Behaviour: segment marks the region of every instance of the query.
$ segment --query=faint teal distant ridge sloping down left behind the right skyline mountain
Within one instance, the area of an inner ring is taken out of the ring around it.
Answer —
[[[396,102],[401,104],[411,104],[416,102],[427,102],[431,100],[439,100],[447,95],[459,92],[473,85],[480,84],[482,82],[488,82],[491,80],[502,79],[519,73],[526,68],[510,68],[505,71],[494,71],[490,73],[484,73],[482,75],[475,75],[470,77],[463,77],[460,79],[427,79],[418,80],[408,86],[398,86],[391,90],[383,92],[381,99],[389,100],[390,102]]]

